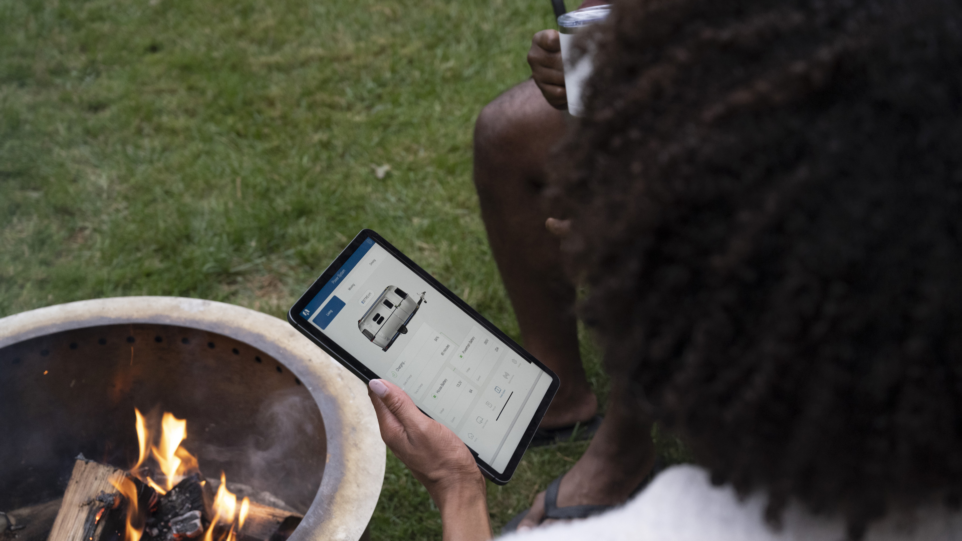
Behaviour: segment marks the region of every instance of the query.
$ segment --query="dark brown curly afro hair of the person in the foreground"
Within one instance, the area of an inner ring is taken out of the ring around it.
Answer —
[[[614,380],[716,483],[962,496],[962,4],[621,0],[555,216]]]

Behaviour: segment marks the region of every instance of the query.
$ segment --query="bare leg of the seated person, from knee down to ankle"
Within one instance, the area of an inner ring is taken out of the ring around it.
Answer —
[[[544,169],[566,127],[531,80],[494,99],[474,126],[481,216],[524,347],[561,377],[546,428],[588,421],[597,411],[578,352],[574,288],[561,270],[558,240],[544,229]]]

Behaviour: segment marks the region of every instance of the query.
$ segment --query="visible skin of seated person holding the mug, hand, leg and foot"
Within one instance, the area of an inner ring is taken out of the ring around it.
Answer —
[[[597,400],[578,354],[574,287],[561,265],[559,237],[570,222],[549,218],[544,201],[550,152],[569,129],[557,31],[535,34],[528,63],[532,79],[495,98],[478,116],[474,183],[524,347],[561,378],[542,421],[550,428],[590,420]],[[651,469],[650,431],[647,419],[610,408],[588,451],[562,479],[558,505],[625,502]],[[536,527],[543,518],[544,492],[520,526]]]

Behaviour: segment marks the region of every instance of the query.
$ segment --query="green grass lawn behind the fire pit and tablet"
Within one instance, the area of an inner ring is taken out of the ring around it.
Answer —
[[[0,0],[0,316],[163,295],[283,318],[371,227],[517,339],[471,129],[552,24],[546,0]],[[490,484],[495,531],[585,447]],[[441,536],[390,452],[371,528]]]

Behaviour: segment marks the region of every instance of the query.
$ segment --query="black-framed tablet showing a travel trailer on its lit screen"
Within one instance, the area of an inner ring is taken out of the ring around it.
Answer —
[[[498,484],[514,474],[558,390],[557,375],[369,229],[288,321],[366,383],[403,389]]]

